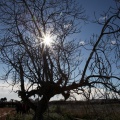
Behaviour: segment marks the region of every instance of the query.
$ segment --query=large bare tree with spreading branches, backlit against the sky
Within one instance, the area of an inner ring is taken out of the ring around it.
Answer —
[[[18,95],[35,111],[35,120],[43,119],[56,94],[66,100],[71,90],[88,91],[90,98],[92,88],[101,94],[105,88],[119,95],[120,9],[112,11],[104,21],[96,21],[102,25],[101,33],[96,38],[93,35],[86,46],[75,39],[80,23],[86,20],[77,1],[0,1],[0,57],[8,66],[4,79],[20,86]],[[90,53],[86,61],[81,54],[84,48]],[[41,98],[37,104],[29,100],[34,95]]]

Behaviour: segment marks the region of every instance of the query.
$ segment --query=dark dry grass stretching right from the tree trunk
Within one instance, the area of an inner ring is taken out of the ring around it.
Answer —
[[[59,105],[59,107],[56,108],[55,106],[50,106],[50,113],[57,111],[60,111],[60,114],[63,116],[69,115],[73,118],[81,118],[84,120],[120,120],[119,104],[69,104]]]

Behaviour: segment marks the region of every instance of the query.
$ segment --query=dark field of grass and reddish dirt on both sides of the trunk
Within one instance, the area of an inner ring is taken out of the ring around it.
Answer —
[[[0,120],[32,120],[33,112],[16,114],[14,108],[0,108]],[[120,104],[50,104],[45,120],[120,120]]]

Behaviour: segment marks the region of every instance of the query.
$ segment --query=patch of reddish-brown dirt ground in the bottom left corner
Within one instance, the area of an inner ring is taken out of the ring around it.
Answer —
[[[15,114],[15,108],[0,108],[0,120],[6,120],[8,114]]]

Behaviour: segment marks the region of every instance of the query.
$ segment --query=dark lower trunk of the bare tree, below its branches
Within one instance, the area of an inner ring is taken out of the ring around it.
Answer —
[[[47,108],[48,100],[44,96],[36,105],[36,111],[33,120],[43,120],[43,113],[47,110]]]

